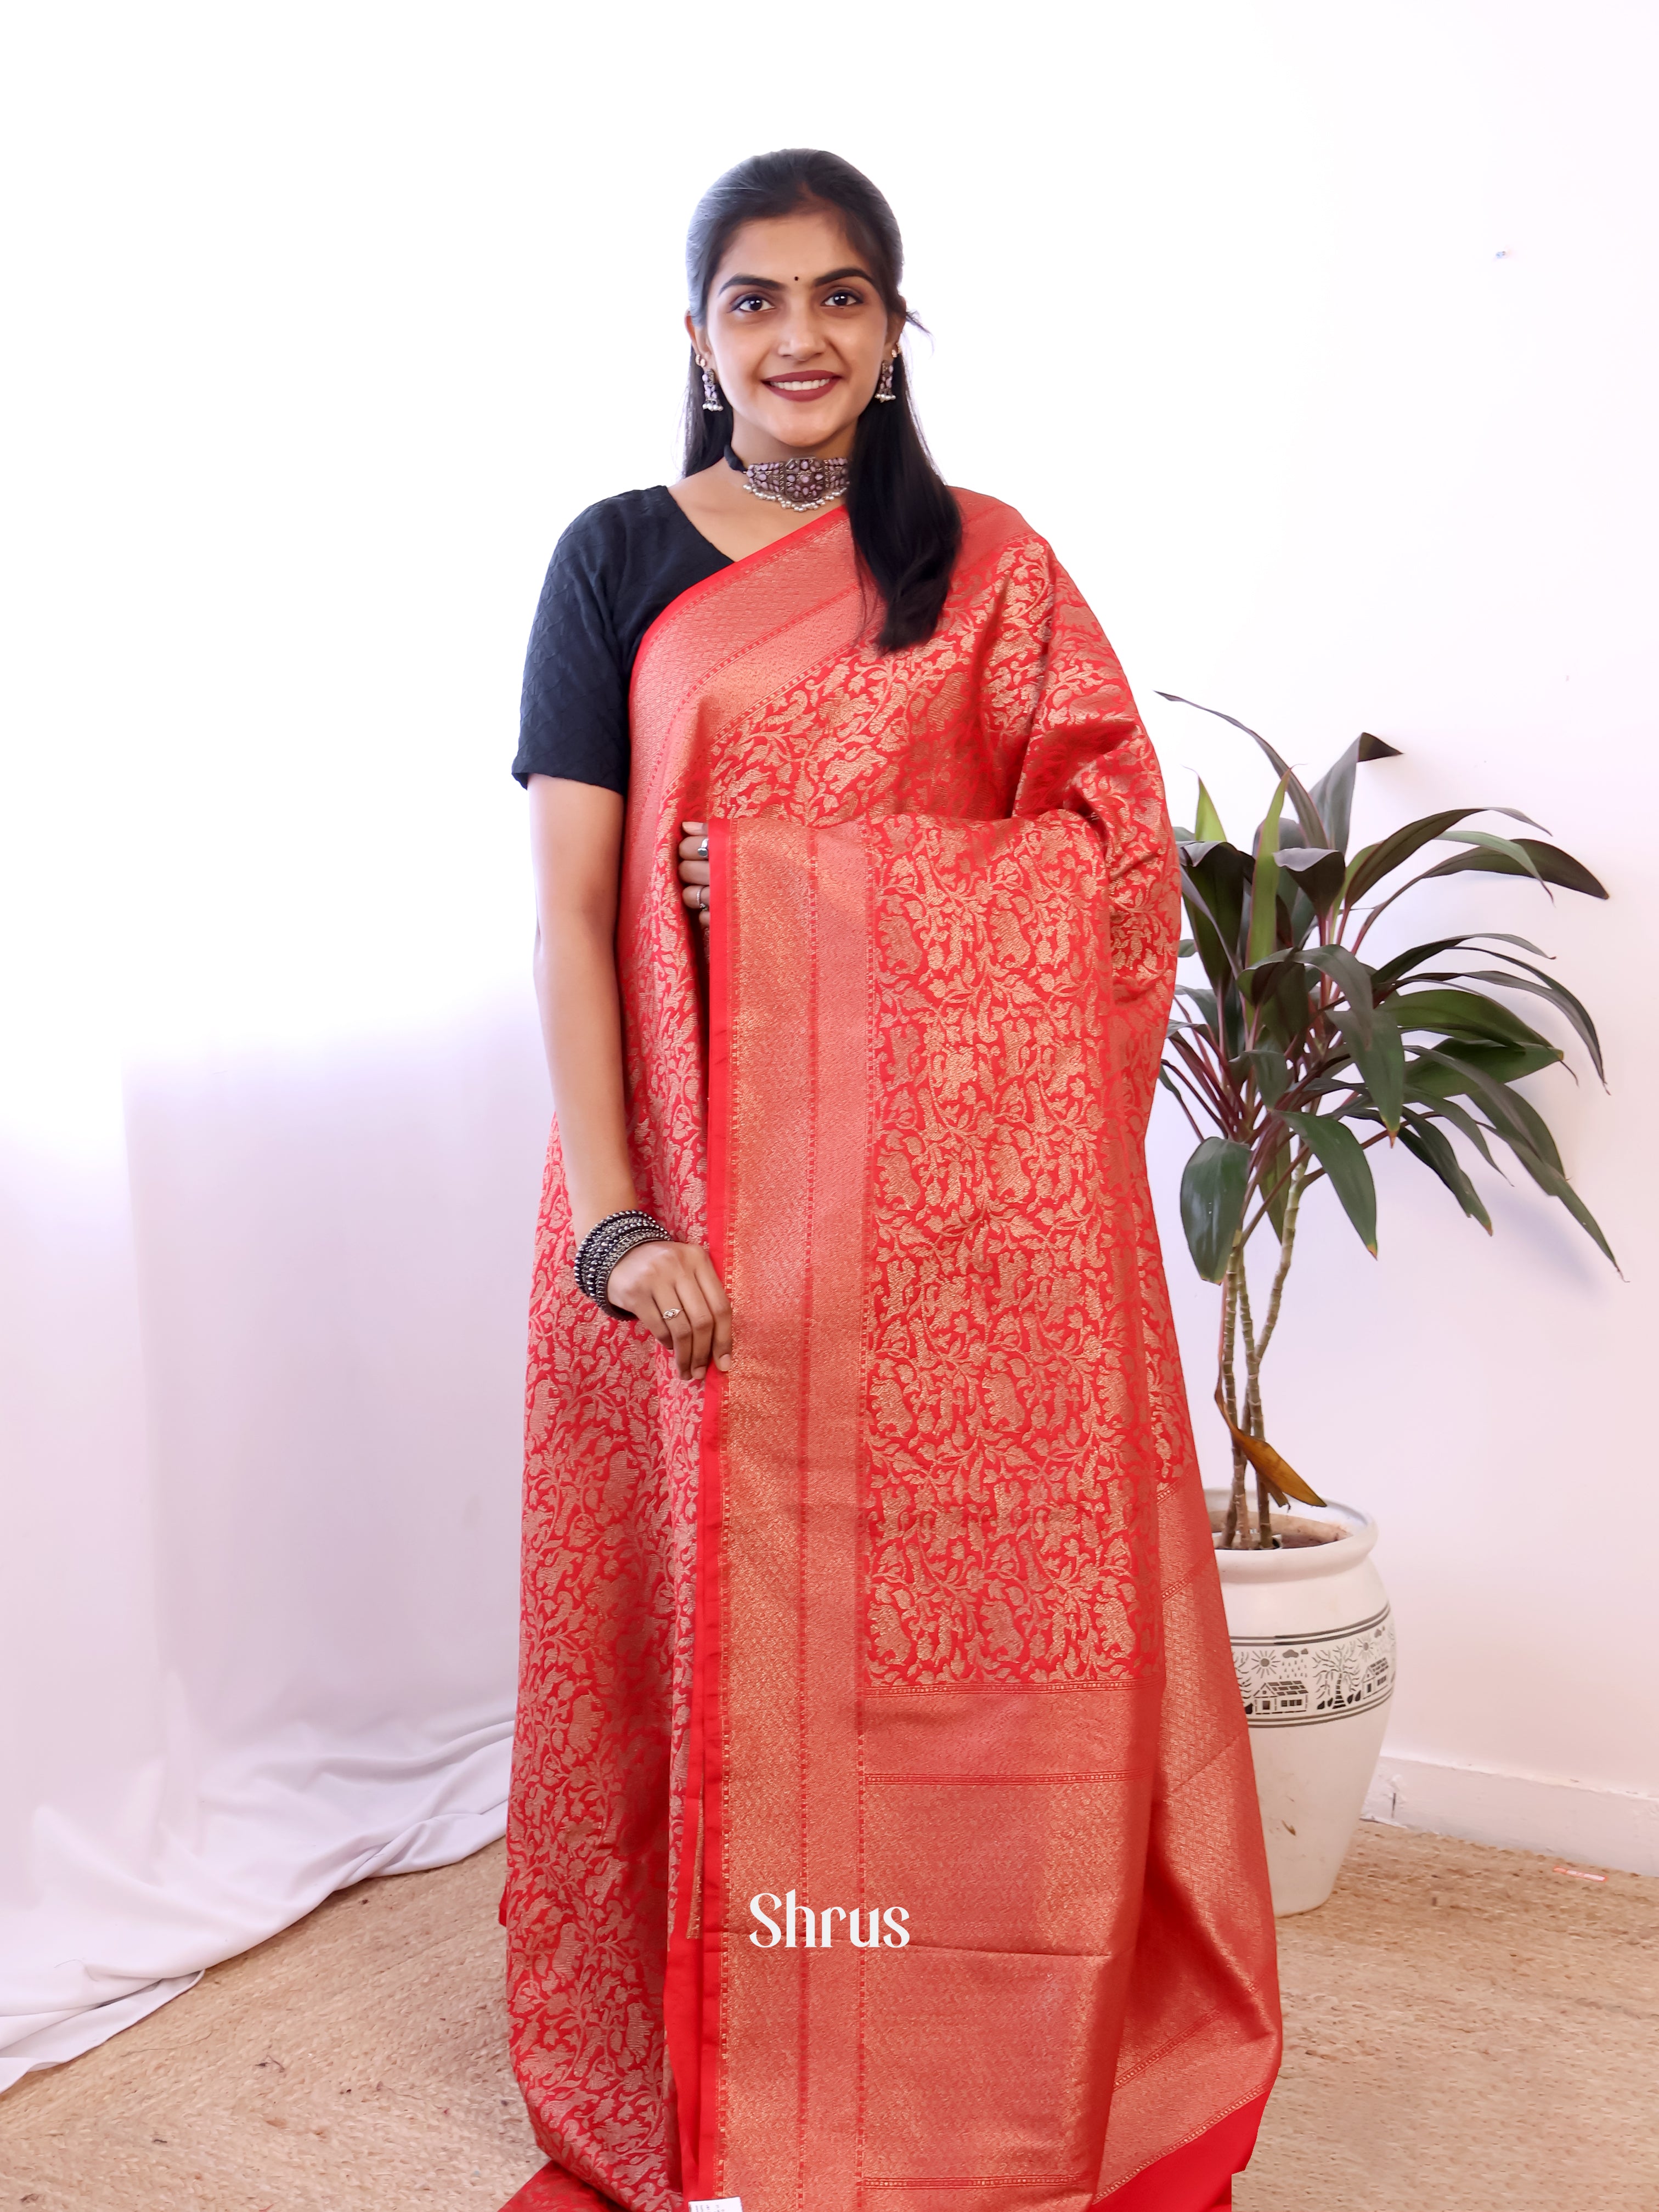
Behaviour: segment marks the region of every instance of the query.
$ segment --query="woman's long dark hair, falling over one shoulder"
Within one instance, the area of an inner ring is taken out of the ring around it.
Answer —
[[[810,146],[750,155],[748,161],[728,168],[697,201],[686,234],[692,321],[699,325],[708,321],[708,288],[732,232],[743,223],[772,221],[812,206],[841,217],[876,279],[887,312],[914,323],[916,316],[898,290],[905,246],[894,210],[852,161],[834,153],[814,153]],[[922,442],[902,354],[894,361],[894,396],[896,405],[872,400],[858,416],[847,482],[847,520],[858,566],[885,606],[878,637],[883,653],[918,646],[933,635],[962,544],[962,513]],[[686,476],[719,460],[730,436],[730,400],[719,414],[703,409],[703,376],[692,349],[686,389]]]

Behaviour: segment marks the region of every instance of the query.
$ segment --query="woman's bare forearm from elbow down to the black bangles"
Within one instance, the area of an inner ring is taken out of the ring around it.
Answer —
[[[597,916],[549,916],[535,936],[535,1000],[580,1239],[606,1214],[639,1203],[628,1164],[613,929]]]

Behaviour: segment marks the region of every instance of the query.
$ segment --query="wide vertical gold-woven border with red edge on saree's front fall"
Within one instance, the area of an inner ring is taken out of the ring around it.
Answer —
[[[703,1416],[666,1995],[684,2185],[854,2212],[865,1953],[843,1927],[812,1958],[750,1955],[732,1891],[863,1902],[865,845],[854,825],[754,821],[734,854],[710,823],[710,1245],[734,1374]],[[801,1048],[779,1053],[790,1020]]]

